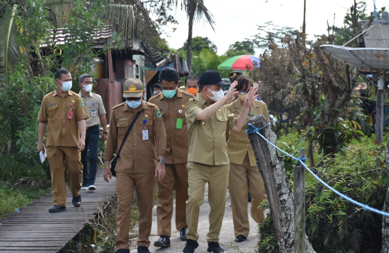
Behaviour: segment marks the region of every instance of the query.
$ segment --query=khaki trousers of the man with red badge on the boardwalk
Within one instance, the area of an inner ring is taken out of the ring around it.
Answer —
[[[73,197],[80,195],[82,180],[81,153],[77,147],[46,147],[50,164],[51,192],[53,204],[66,206],[66,183],[63,164],[68,173],[68,187]]]

